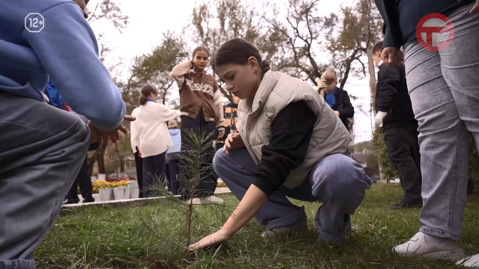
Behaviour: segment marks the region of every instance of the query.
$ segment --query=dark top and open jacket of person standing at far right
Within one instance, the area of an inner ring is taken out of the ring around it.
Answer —
[[[383,17],[385,47],[399,48],[416,39],[416,25],[430,13],[446,15],[474,0],[375,0]]]

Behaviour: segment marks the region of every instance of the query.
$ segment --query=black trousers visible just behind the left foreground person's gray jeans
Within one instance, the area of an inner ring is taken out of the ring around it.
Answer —
[[[93,186],[91,185],[91,178],[88,173],[88,156],[85,157],[80,172],[78,172],[78,176],[67,194],[68,203],[80,202],[80,199],[78,199],[78,186],[80,186],[83,202],[95,202],[95,198],[92,196]]]

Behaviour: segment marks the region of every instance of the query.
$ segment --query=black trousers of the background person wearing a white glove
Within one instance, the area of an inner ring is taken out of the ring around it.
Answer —
[[[399,172],[404,190],[403,201],[410,204],[422,203],[421,198],[421,155],[419,132],[416,128],[388,128],[384,130],[384,142],[389,159]]]

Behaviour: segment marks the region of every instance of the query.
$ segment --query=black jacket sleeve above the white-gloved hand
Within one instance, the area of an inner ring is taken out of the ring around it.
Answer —
[[[389,112],[399,88],[399,69],[382,64],[377,74],[376,112]]]

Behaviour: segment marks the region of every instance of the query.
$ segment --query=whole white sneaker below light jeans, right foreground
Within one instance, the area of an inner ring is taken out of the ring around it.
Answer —
[[[429,244],[426,243],[426,236],[422,232],[418,232],[406,243],[393,247],[392,250],[403,256],[424,256],[454,261],[466,257],[456,241],[447,239],[442,243]]]

